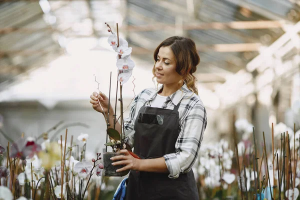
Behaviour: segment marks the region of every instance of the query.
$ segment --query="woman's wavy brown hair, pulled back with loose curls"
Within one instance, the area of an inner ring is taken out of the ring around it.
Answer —
[[[178,88],[184,81],[187,88],[198,94],[196,86],[197,78],[192,74],[196,71],[200,63],[200,57],[196,49],[195,42],[187,37],[172,36],[163,40],[154,51],[154,60],[157,61],[157,54],[161,46],[170,46],[175,57],[176,71],[182,79],[178,82]],[[155,76],[155,62],[152,68],[153,78]]]

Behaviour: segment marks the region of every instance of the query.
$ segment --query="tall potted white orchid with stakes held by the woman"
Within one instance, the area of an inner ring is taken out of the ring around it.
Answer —
[[[122,85],[128,81],[132,74],[132,69],[134,67],[134,62],[130,59],[131,54],[131,47],[128,47],[128,42],[120,38],[118,36],[118,24],[116,24],[117,31],[112,32],[110,26],[105,22],[105,24],[108,27],[108,32],[111,33],[111,35],[108,37],[107,41],[109,45],[112,47],[113,50],[117,52],[117,60],[116,60],[116,67],[117,67],[117,80],[119,83],[119,92],[120,92],[120,98],[118,99],[120,101],[120,116],[116,119],[116,115],[114,114],[113,118],[113,128],[110,126],[109,121],[109,108],[108,108],[108,116],[104,114],[107,129],[106,129],[106,142],[108,141],[107,137],[109,136],[109,141],[105,143],[105,152],[103,152],[103,163],[104,163],[104,175],[105,176],[123,176],[126,175],[129,170],[122,171],[122,172],[116,172],[116,169],[123,167],[123,165],[111,165],[110,157],[120,155],[118,151],[120,149],[126,148],[130,154],[134,155],[131,152],[131,147],[124,142],[124,139],[134,133],[134,131],[126,132],[124,130],[124,122],[123,122],[123,101],[122,101]],[[111,83],[111,75],[110,75],[110,83]],[[118,90],[118,84],[116,86],[116,94]],[[110,102],[110,86],[109,86],[109,98],[108,101]],[[115,99],[115,109],[116,110],[116,102],[117,102],[117,96]],[[99,103],[101,106],[101,104]],[[115,129],[115,123],[116,120],[120,118],[120,132],[118,132]],[[107,146],[110,146],[112,148],[112,152],[107,152]],[[137,157],[136,155],[134,155]]]

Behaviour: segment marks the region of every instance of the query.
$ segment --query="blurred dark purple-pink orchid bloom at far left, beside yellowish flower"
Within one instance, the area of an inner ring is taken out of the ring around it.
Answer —
[[[31,158],[34,153],[37,153],[40,150],[41,146],[35,143],[35,139],[33,137],[28,137],[26,139],[19,138],[11,144],[10,157],[25,159],[28,156]]]

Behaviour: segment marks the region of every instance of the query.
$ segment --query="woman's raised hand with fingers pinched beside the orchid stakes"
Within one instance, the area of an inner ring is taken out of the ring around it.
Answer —
[[[98,112],[107,114],[108,106],[110,106],[109,112],[113,113],[113,109],[112,109],[110,103],[108,102],[108,97],[104,93],[100,93],[100,95],[99,95],[97,92],[94,91],[90,95],[89,102],[92,104],[92,108]],[[101,106],[99,105],[99,103]]]

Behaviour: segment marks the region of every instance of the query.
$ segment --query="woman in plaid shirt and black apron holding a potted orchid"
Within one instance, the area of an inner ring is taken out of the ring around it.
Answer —
[[[195,43],[186,37],[169,37],[155,49],[154,60],[152,73],[162,86],[142,90],[124,120],[125,130],[135,131],[126,142],[142,159],[122,149],[124,155],[112,157],[113,164],[125,165],[119,171],[130,169],[127,200],[199,199],[190,169],[207,121],[192,75],[200,62]],[[92,107],[107,115],[107,96],[100,93],[98,97],[103,110],[97,97],[96,92],[90,95]],[[110,117],[112,121],[111,112]],[[115,127],[120,130],[119,124]]]

